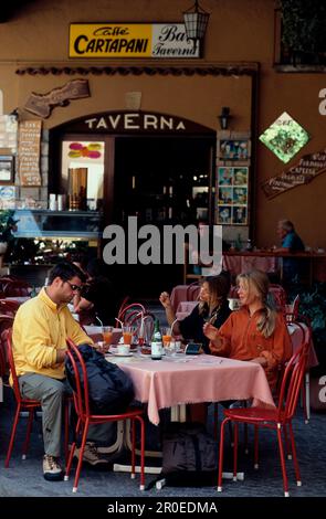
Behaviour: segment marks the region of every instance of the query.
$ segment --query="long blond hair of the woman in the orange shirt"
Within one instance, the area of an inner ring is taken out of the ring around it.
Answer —
[[[261,331],[265,338],[271,337],[275,330],[277,313],[269,295],[269,277],[262,271],[252,271],[240,274],[236,277],[238,284],[240,279],[246,285],[249,294],[253,293],[262,300],[263,308],[260,310],[261,315],[257,320],[257,330]]]

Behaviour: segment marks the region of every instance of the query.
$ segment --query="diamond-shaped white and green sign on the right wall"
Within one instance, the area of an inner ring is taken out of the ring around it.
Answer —
[[[260,136],[260,140],[287,163],[309,140],[307,131],[286,112]]]

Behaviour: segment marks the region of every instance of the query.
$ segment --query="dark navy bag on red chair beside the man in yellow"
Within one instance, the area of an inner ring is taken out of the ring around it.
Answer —
[[[78,350],[86,366],[92,414],[124,413],[134,399],[130,378],[118,366],[107,362],[103,354],[90,345],[82,345]],[[77,359],[76,363],[83,386],[83,373]],[[69,357],[65,359],[65,372],[71,388],[75,390],[75,375]]]

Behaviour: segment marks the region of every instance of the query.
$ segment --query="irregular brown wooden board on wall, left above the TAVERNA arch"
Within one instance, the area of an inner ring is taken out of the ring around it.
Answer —
[[[90,97],[88,81],[73,80],[63,86],[53,88],[48,94],[32,92],[24,109],[46,119],[55,106],[67,106],[71,99],[81,99],[83,97]]]

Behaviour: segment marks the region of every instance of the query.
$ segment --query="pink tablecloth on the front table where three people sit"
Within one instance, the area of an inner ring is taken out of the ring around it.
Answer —
[[[261,366],[212,356],[176,356],[161,361],[129,358],[119,363],[134,382],[135,398],[148,403],[148,417],[159,423],[159,410],[178,404],[254,399],[274,406]]]

